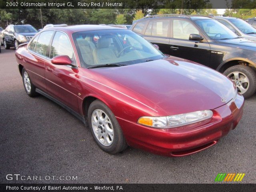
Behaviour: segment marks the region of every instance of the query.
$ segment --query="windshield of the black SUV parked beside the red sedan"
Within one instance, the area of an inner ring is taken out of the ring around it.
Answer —
[[[211,39],[233,39],[238,36],[229,28],[213,19],[200,19],[195,21],[198,26],[206,32]]]

